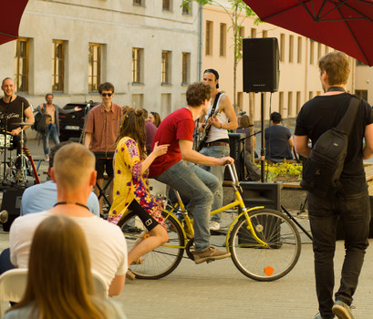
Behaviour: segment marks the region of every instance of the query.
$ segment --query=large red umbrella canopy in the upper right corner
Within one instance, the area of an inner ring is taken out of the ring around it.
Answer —
[[[244,0],[262,21],[373,65],[373,0]]]

